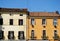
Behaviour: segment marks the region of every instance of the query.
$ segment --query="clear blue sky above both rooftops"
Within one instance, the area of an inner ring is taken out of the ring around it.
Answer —
[[[60,0],[0,0],[2,8],[27,8],[30,12],[60,12]]]

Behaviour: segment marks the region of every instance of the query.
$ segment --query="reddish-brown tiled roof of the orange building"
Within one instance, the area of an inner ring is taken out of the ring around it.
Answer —
[[[60,16],[56,12],[30,12],[30,16]]]

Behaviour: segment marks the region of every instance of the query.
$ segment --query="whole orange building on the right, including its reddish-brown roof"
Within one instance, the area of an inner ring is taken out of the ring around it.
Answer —
[[[60,15],[57,12],[30,12],[29,41],[60,41]]]

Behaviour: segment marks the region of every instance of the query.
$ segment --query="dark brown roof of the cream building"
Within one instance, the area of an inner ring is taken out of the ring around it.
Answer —
[[[0,8],[0,12],[27,12],[27,9],[18,9],[18,8]]]

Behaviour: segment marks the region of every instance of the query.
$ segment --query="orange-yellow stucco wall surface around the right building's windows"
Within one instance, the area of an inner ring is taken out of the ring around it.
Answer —
[[[36,39],[42,39],[43,30],[46,30],[46,36],[48,39],[53,41],[54,30],[57,30],[57,34],[60,36],[60,19],[57,18],[57,28],[53,25],[53,18],[46,18],[46,27],[44,28],[42,25],[42,18],[35,18],[35,25],[32,27],[31,25],[31,18],[28,19],[28,39],[31,39],[31,30],[35,31]]]

